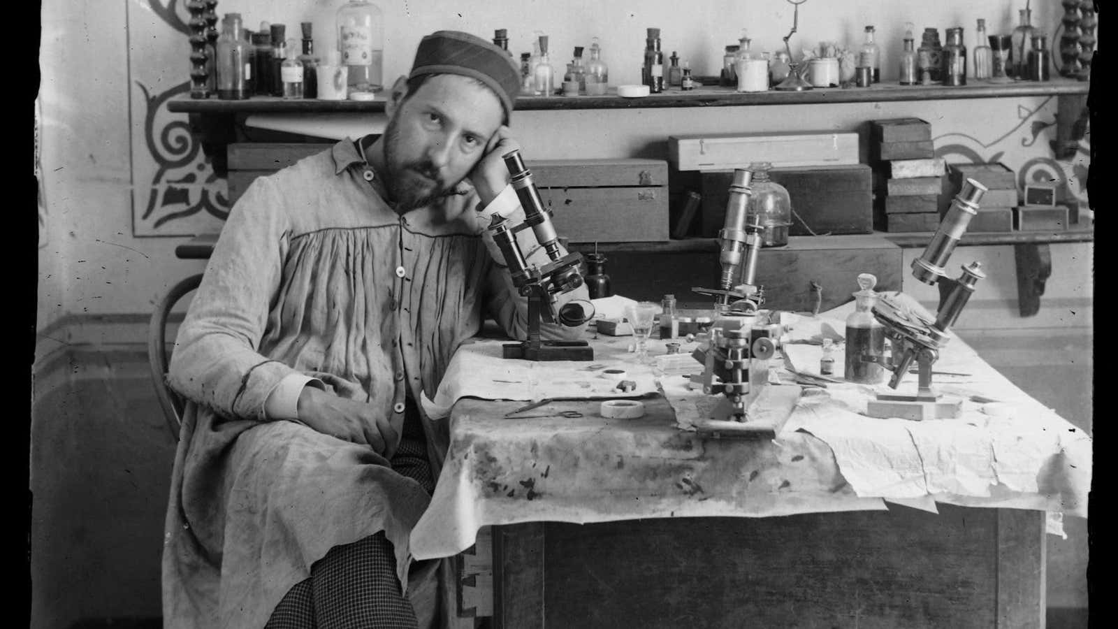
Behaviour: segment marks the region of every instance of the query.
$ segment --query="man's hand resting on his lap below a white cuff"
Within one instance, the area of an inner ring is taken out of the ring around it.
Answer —
[[[372,404],[304,386],[299,395],[299,421],[322,434],[369,445],[386,459],[396,451],[396,430]]]

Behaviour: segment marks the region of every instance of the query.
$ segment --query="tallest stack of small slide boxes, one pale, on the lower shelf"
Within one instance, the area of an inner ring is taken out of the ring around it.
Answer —
[[[931,125],[918,118],[870,121],[874,170],[874,228],[935,232],[944,191],[944,160],[936,158]]]

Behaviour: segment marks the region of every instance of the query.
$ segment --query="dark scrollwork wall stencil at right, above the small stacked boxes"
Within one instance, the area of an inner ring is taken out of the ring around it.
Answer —
[[[1055,97],[1045,98],[1036,109],[1018,104],[1017,121],[992,140],[968,133],[945,133],[935,138],[936,157],[948,163],[1002,162],[1017,173],[1017,188],[1044,184],[1057,187],[1057,198],[1087,207],[1087,168],[1090,162],[1089,135],[1079,142],[1069,161],[1055,159],[1051,140],[1055,137]],[[992,121],[1002,120],[991,116]],[[995,129],[995,132],[997,128]]]

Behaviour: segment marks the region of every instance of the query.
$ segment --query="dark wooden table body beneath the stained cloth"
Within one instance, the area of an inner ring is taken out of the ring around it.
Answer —
[[[521,404],[459,400],[452,439],[472,417],[503,417]],[[584,401],[552,409],[578,410],[587,419],[577,421],[593,421],[596,406]],[[702,438],[674,428],[666,402],[647,407],[651,422],[646,416],[634,425],[635,442],[662,433],[681,452],[703,447]],[[601,430],[608,439],[607,433],[626,429]],[[777,448],[738,443],[761,448],[757,458]],[[720,442],[705,449],[716,457],[719,448],[732,447]],[[625,457],[635,461],[641,452]],[[678,463],[665,459],[662,466]],[[578,464],[587,463],[580,459]],[[632,498],[619,494],[617,499]],[[492,548],[491,613],[498,628],[1030,628],[1044,622],[1045,518],[1040,510],[940,504],[937,515],[889,504],[889,510],[781,517],[527,522],[492,526],[491,533],[492,539],[480,538],[474,551],[487,555]],[[489,614],[489,605],[477,603],[487,603],[489,593],[472,586],[487,583],[490,575],[470,574],[471,565],[490,564],[489,556],[462,556],[467,564],[462,607],[479,608],[466,614]]]

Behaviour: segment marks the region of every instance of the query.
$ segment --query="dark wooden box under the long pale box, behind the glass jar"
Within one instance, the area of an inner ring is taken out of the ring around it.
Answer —
[[[788,228],[790,235],[873,232],[872,170],[869,166],[774,168],[769,177],[788,190],[795,213]],[[732,180],[732,171],[702,173],[702,235],[713,237],[722,228]]]

